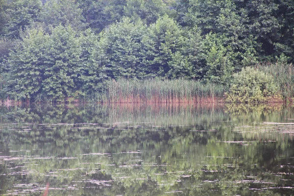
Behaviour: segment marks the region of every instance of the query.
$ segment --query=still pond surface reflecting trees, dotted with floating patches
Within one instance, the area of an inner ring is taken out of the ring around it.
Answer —
[[[294,107],[0,108],[0,195],[294,195]]]

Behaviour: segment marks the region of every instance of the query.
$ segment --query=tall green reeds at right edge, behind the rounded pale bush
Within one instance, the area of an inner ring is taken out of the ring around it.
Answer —
[[[263,63],[257,65],[261,71],[273,76],[274,81],[279,87],[280,94],[286,100],[293,101],[294,98],[294,66],[284,63]]]

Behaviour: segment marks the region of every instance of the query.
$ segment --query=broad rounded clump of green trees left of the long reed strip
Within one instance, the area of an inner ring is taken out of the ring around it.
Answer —
[[[98,64],[97,43],[90,30],[78,33],[59,25],[49,34],[42,27],[31,29],[10,54],[7,93],[60,100],[91,90],[105,75]]]

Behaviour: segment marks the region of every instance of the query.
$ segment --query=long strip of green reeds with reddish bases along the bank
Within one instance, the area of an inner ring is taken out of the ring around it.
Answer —
[[[111,80],[100,101],[109,103],[213,103],[223,102],[223,85],[187,79]]]

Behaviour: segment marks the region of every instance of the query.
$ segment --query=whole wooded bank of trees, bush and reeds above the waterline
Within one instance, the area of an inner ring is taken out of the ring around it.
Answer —
[[[1,99],[291,101],[293,62],[293,0],[0,0]]]

